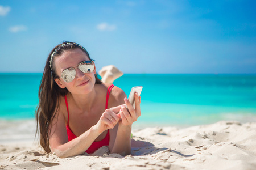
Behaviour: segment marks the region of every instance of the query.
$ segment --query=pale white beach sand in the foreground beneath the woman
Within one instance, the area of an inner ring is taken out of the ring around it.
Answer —
[[[256,123],[146,128],[133,131],[132,155],[109,154],[60,159],[32,143],[0,144],[0,169],[256,169]]]

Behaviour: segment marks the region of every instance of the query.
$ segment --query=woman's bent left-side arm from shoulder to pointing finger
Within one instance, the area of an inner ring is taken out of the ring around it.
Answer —
[[[65,127],[64,114],[59,112],[53,118],[49,130],[49,144],[51,151],[55,152],[60,158],[84,154],[84,152],[92,145],[93,141],[105,130],[112,129],[118,123],[119,117],[115,112],[121,107],[107,109],[101,116],[96,125],[92,126],[79,137],[68,142],[67,130]],[[112,116],[110,121],[108,117]]]

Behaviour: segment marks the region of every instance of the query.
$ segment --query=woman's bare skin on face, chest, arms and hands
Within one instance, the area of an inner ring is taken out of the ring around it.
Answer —
[[[81,49],[68,50],[55,58],[57,75],[67,68],[77,66],[89,60]],[[105,110],[106,92],[110,84],[95,84],[96,69],[93,73],[82,73],[77,67],[72,82],[66,83],[57,78],[55,82],[61,88],[67,88],[69,126],[77,138],[68,141],[66,125],[68,112],[64,97],[61,97],[60,108],[52,118],[49,129],[49,145],[52,152],[60,158],[84,154],[93,141],[105,138],[110,132],[109,150],[123,156],[131,152],[131,125],[141,116],[141,98],[135,94],[135,109],[127,100],[125,92],[114,87],[109,96],[108,108]],[[127,111],[125,105],[129,109]],[[118,113],[119,112],[119,113]],[[113,117],[113,118],[112,118]],[[111,121],[110,121],[111,120]]]

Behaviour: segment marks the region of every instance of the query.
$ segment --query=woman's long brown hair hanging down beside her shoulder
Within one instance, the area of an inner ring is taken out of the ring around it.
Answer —
[[[87,50],[75,42],[65,41],[62,44],[55,46],[46,61],[44,66],[44,73],[39,87],[39,104],[36,108],[36,134],[40,133],[40,145],[44,148],[47,153],[51,152],[49,147],[49,125],[51,124],[52,118],[59,110],[60,97],[65,96],[68,93],[67,88],[60,88],[55,82],[55,78],[58,78],[55,68],[55,58],[60,56],[67,50],[73,50],[80,48],[92,60]],[[101,80],[95,74],[96,84],[101,84]]]

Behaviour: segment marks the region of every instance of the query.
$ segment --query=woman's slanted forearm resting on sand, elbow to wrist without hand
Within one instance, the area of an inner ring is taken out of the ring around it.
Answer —
[[[84,154],[99,135],[100,133],[92,126],[92,128],[85,131],[85,133],[81,134],[79,137],[56,147],[52,152],[55,152],[60,158]]]

